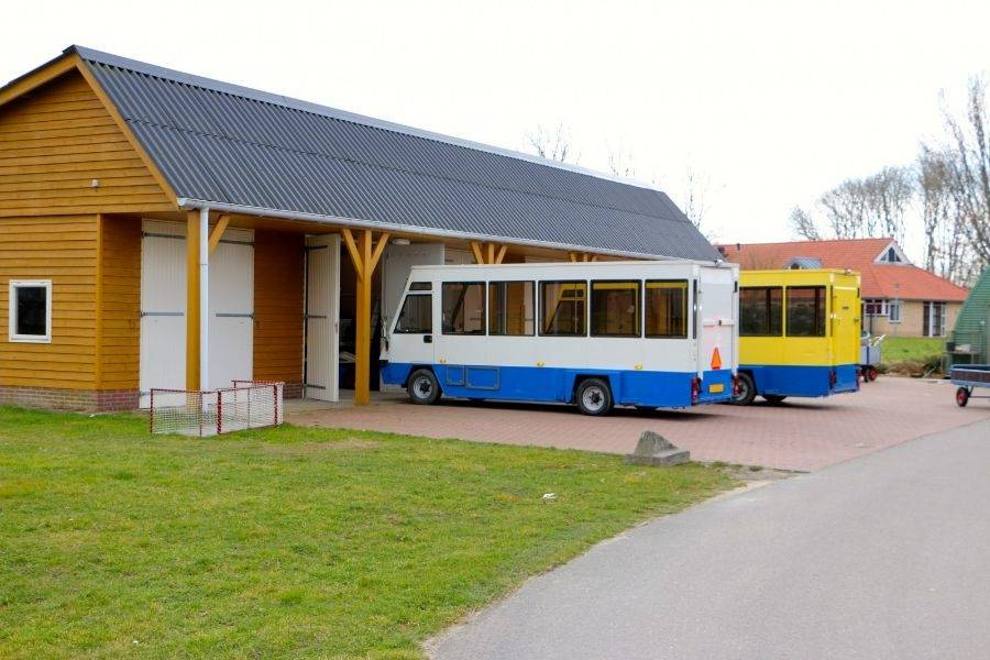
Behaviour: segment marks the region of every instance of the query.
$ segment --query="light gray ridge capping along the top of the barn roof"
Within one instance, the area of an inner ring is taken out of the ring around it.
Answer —
[[[153,76],[156,78],[162,78],[165,80],[170,80],[173,82],[178,82],[180,85],[190,85],[194,87],[199,87],[202,89],[209,89],[212,91],[217,91],[220,94],[229,94],[232,96],[240,96],[243,98],[248,98],[254,101],[263,102],[263,103],[272,103],[276,106],[282,106],[284,108],[288,108],[292,110],[298,110],[300,112],[309,112],[312,114],[319,114],[322,117],[329,117],[331,119],[338,119],[340,121],[350,121],[358,124],[363,124],[372,128],[382,129],[385,131],[392,131],[395,133],[402,133],[405,135],[410,135],[414,138],[420,138],[424,140],[432,140],[435,142],[443,142],[446,144],[451,144],[453,146],[460,146],[462,148],[471,148],[475,151],[483,151],[490,154],[502,156],[506,158],[515,158],[517,161],[525,161],[528,163],[532,163],[534,165],[541,165],[544,167],[553,167],[556,169],[563,169],[566,172],[571,172],[574,174],[581,174],[584,176],[590,176],[593,178],[610,180],[616,184],[622,184],[626,186],[632,186],[637,188],[644,188],[646,190],[652,190],[654,193],[666,193],[660,188],[648,184],[646,182],[640,182],[638,179],[631,179],[627,177],[622,177],[618,175],[608,174],[606,172],[600,172],[596,169],[591,169],[588,167],[583,167],[581,165],[575,165],[572,163],[562,163],[560,161],[552,161],[550,158],[542,158],[540,156],[535,156],[532,154],[522,153],[519,151],[505,148],[501,146],[494,146],[491,144],[485,144],[483,142],[475,142],[473,140],[466,140],[464,138],[455,138],[453,135],[446,135],[443,133],[437,133],[435,131],[428,131],[426,129],[417,129],[415,127],[409,127],[406,124],[400,124],[397,122],[387,121],[384,119],[377,119],[374,117],[369,117],[365,114],[359,114],[356,112],[351,112],[349,110],[341,110],[339,108],[332,108],[330,106],[322,106],[320,103],[314,103],[311,101],[305,101],[301,99],[296,99],[293,97],[277,95],[268,91],[263,91],[260,89],[254,89],[252,87],[245,87],[242,85],[235,85],[233,82],[224,82],[223,80],[217,80],[216,78],[207,78],[205,76],[197,76],[196,74],[187,74],[185,72],[179,72],[176,69],[169,69],[167,67],[158,66],[155,64],[148,64],[146,62],[141,62],[139,59],[132,59],[130,57],[123,57],[121,55],[114,55],[112,53],[105,53],[102,51],[97,51],[95,48],[88,48],[86,46],[80,46],[77,44],[73,44],[67,47],[63,54],[76,53],[85,61],[97,62],[108,66],[116,66],[118,68],[124,68],[134,73],[144,74],[147,76]]]

